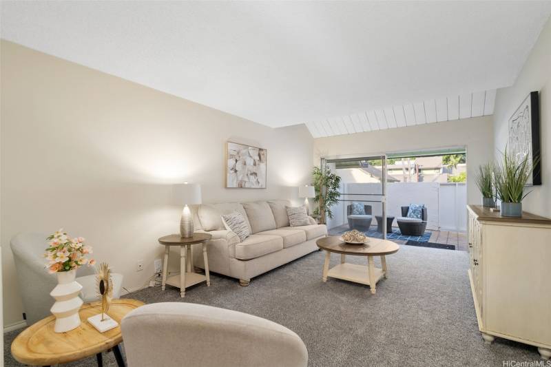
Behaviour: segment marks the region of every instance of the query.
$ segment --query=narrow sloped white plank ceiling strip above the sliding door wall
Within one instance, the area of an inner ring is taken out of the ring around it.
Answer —
[[[488,116],[494,113],[494,103],[495,90],[486,90],[371,109],[360,114],[323,118],[307,122],[306,127],[314,138],[371,132]]]

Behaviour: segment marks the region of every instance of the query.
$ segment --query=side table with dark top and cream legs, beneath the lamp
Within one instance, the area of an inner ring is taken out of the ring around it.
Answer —
[[[159,243],[165,247],[165,259],[163,260],[163,282],[161,289],[164,291],[166,284],[176,286],[180,289],[180,297],[184,297],[185,289],[188,286],[207,282],[207,286],[211,285],[211,277],[209,274],[209,259],[207,258],[207,241],[212,238],[209,233],[194,233],[193,237],[185,238],[180,235],[165,235],[159,238]],[[202,256],[205,262],[205,275],[194,273],[193,261],[191,259],[191,245],[202,244]],[[168,275],[168,254],[171,246],[180,247],[180,275]],[[186,264],[187,262],[187,264]]]

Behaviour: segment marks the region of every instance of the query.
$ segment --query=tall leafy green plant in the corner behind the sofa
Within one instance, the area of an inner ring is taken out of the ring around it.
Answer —
[[[320,224],[326,224],[326,217],[333,218],[331,207],[337,204],[340,198],[340,176],[333,174],[329,167],[314,167],[312,176],[315,187],[314,202],[318,203],[314,214],[320,216]]]

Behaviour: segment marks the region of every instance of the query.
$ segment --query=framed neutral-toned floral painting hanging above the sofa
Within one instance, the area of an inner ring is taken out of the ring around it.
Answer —
[[[226,161],[226,187],[266,189],[266,149],[227,142]]]

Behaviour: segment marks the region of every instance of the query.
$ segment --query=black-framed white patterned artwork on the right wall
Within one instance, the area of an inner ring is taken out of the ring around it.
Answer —
[[[509,142],[507,153],[517,161],[528,156],[532,177],[527,185],[541,185],[541,150],[539,136],[538,92],[530,92],[509,118]],[[535,162],[535,164],[534,164]]]

